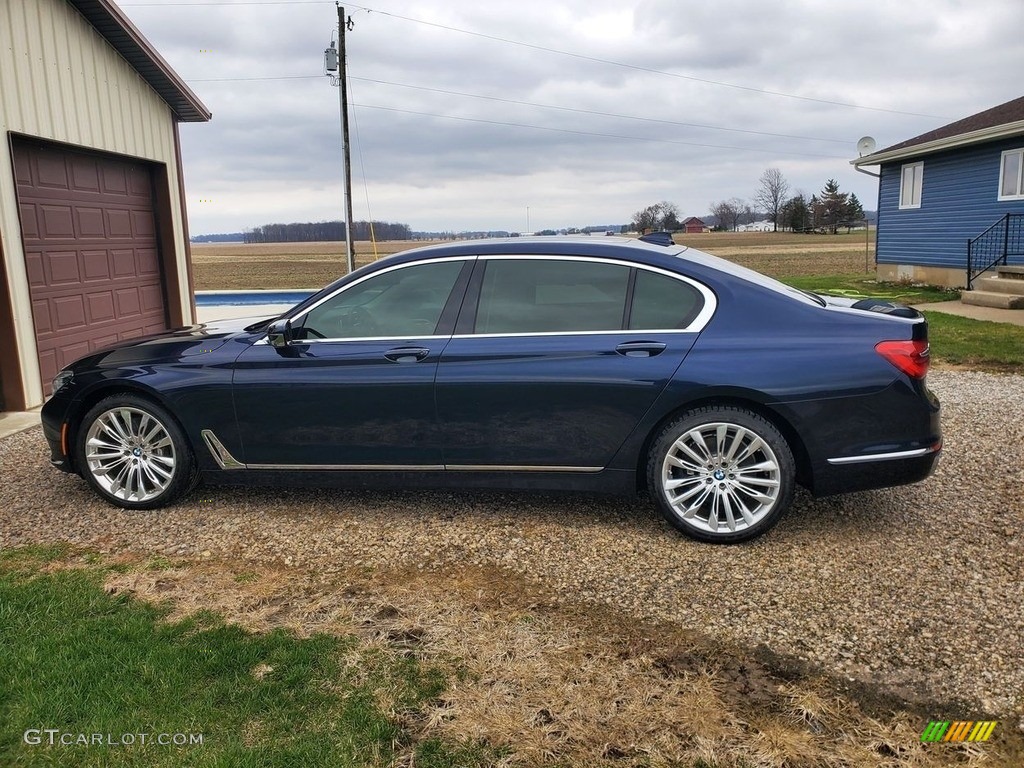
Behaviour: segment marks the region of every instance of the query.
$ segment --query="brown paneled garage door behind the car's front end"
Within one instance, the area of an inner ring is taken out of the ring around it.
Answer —
[[[106,344],[167,328],[148,165],[13,142],[43,389]]]

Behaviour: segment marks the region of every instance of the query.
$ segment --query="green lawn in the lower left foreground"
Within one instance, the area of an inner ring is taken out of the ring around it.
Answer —
[[[383,766],[402,750],[434,768],[494,758],[417,743],[403,728],[445,686],[416,658],[352,637],[250,633],[212,613],[167,622],[166,608],[105,594],[103,568],[85,557],[44,569],[67,556],[0,551],[0,765]],[[400,720],[381,710],[382,691]],[[30,729],[58,729],[58,740],[136,735],[131,745],[49,745],[41,732],[29,744]],[[202,743],[154,743],[162,733]]]

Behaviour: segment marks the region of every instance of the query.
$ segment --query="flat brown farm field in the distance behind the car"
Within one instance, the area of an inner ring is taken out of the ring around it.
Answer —
[[[864,271],[864,236],[791,232],[714,232],[677,236],[677,242],[776,276]],[[355,262],[368,264],[399,251],[430,245],[393,241],[355,244]],[[375,250],[376,248],[376,250]],[[345,273],[344,243],[194,244],[200,291],[319,288]],[[874,263],[873,238],[868,263]]]

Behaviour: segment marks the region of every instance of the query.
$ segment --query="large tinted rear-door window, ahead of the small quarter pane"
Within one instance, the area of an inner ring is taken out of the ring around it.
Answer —
[[[617,331],[630,270],[618,264],[557,259],[487,261],[476,333]]]

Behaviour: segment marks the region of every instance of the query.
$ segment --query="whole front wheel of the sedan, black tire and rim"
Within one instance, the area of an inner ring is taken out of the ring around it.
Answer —
[[[157,509],[199,481],[191,446],[170,413],[121,393],[86,413],[75,440],[75,465],[96,494],[125,509]]]

